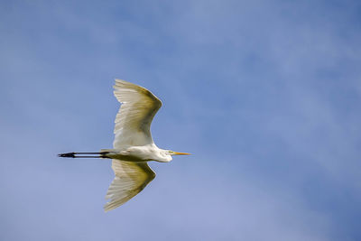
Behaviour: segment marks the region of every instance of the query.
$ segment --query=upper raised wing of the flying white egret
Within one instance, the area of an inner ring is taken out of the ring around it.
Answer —
[[[116,115],[114,148],[153,144],[151,123],[162,102],[146,88],[116,79],[114,95],[122,103]]]

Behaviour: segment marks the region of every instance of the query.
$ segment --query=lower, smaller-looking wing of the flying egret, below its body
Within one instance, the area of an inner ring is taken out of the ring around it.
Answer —
[[[106,199],[110,201],[104,206],[105,211],[116,209],[132,199],[155,177],[154,171],[146,162],[124,162],[113,159],[112,168],[116,178],[106,192]]]

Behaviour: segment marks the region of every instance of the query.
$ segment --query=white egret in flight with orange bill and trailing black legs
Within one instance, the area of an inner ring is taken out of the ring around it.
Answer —
[[[104,206],[105,211],[116,209],[153,181],[155,173],[147,162],[171,162],[172,155],[189,154],[163,150],[154,144],[151,123],[162,102],[151,91],[116,79],[114,95],[122,104],[116,115],[114,149],[102,149],[99,153],[59,154],[60,157],[113,159],[116,177],[106,192],[106,199],[110,201]]]

